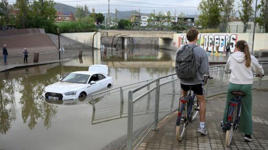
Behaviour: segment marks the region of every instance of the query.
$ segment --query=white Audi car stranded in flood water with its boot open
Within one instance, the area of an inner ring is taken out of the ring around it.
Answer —
[[[113,79],[108,76],[108,69],[107,65],[92,65],[88,71],[70,73],[45,87],[42,96],[54,100],[84,100],[89,94],[112,87]]]

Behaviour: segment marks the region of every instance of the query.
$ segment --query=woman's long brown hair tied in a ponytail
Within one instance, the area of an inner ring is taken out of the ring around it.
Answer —
[[[243,52],[246,57],[246,66],[249,67],[251,63],[251,58],[249,54],[249,46],[245,40],[239,40],[236,42],[235,47],[238,48],[240,52]]]

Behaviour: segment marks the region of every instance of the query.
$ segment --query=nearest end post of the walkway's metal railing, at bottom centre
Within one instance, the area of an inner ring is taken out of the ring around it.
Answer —
[[[129,91],[127,150],[132,150],[132,135],[133,135],[133,93],[132,91]]]

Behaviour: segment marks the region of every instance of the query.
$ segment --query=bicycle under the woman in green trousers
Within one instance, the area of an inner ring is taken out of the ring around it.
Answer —
[[[261,77],[256,74],[253,75],[255,75],[256,77]],[[238,129],[242,107],[242,96],[245,95],[243,92],[240,91],[232,91],[231,93],[234,94],[234,97],[229,102],[227,121],[225,122],[225,125],[223,125],[223,131],[226,132],[226,146],[230,146],[233,131],[236,131]]]

